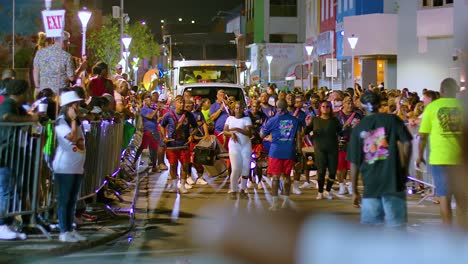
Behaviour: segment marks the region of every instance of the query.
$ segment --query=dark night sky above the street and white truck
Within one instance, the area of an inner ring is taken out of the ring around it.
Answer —
[[[104,0],[104,14],[112,12],[113,5],[120,5],[120,0]],[[208,24],[218,11],[229,11],[244,3],[244,0],[130,0],[124,2],[124,12],[131,21],[144,20],[158,34],[161,19],[169,23],[183,22]]]

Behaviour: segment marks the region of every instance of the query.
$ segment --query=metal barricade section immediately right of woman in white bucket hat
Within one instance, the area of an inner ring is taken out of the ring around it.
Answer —
[[[94,197],[120,170],[123,123],[91,122],[86,130],[85,175],[81,200]]]

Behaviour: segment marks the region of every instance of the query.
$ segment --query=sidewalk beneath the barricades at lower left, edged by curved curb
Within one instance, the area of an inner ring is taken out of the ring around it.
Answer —
[[[115,203],[115,208],[130,208],[134,192],[122,194],[123,202]],[[26,240],[0,240],[0,263],[27,263],[37,261],[44,257],[70,254],[97,245],[105,244],[127,233],[132,225],[128,209],[121,209],[114,214],[103,209],[93,212],[97,216],[95,222],[84,222],[77,231],[88,238],[79,243],[63,243],[58,240],[59,231],[54,228],[50,231],[52,239],[48,240],[38,229],[26,229]],[[48,227],[46,227],[48,228]]]

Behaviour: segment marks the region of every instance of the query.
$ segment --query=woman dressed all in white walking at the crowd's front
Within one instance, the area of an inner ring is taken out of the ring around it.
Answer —
[[[229,160],[231,161],[230,196],[237,199],[237,193],[242,198],[248,198],[247,180],[250,174],[250,157],[252,154],[252,121],[244,114],[245,106],[236,101],[234,103],[234,116],[229,116],[224,125],[224,135],[229,140]],[[241,179],[240,191],[238,180]]]

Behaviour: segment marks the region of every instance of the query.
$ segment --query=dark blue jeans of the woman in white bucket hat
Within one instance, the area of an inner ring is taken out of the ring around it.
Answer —
[[[83,174],[54,174],[57,186],[58,218],[61,233],[73,231],[76,201],[83,180]]]

